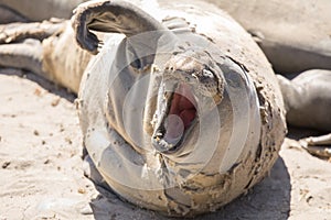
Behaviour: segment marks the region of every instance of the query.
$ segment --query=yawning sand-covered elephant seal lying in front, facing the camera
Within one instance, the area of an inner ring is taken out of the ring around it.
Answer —
[[[250,35],[213,4],[134,3],[83,3],[74,31],[64,22],[39,41],[0,45],[0,65],[18,67],[19,55],[79,87],[84,145],[120,197],[169,216],[214,211],[278,156],[286,123],[277,78]],[[33,56],[15,51],[34,44]]]

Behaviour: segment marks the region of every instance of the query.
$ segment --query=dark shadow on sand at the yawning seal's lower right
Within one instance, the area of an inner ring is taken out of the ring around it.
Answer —
[[[290,175],[279,157],[268,177],[250,191],[218,212],[201,219],[288,219],[290,212]]]

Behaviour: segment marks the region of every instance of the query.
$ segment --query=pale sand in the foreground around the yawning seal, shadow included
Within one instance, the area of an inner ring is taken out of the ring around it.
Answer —
[[[74,99],[30,73],[0,69],[0,219],[167,219],[84,177]],[[196,219],[331,219],[330,183],[331,163],[287,139],[265,180]]]

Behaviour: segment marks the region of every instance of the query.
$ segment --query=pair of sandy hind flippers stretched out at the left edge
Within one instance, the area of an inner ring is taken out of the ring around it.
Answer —
[[[0,67],[26,69],[52,79],[43,69],[42,42],[61,33],[62,20],[0,25]]]

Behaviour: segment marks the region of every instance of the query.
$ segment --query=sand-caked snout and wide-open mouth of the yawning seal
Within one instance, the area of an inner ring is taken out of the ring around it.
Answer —
[[[171,153],[183,145],[199,123],[200,113],[221,102],[225,80],[207,52],[190,48],[174,53],[158,74],[161,81],[152,145],[159,152]]]

